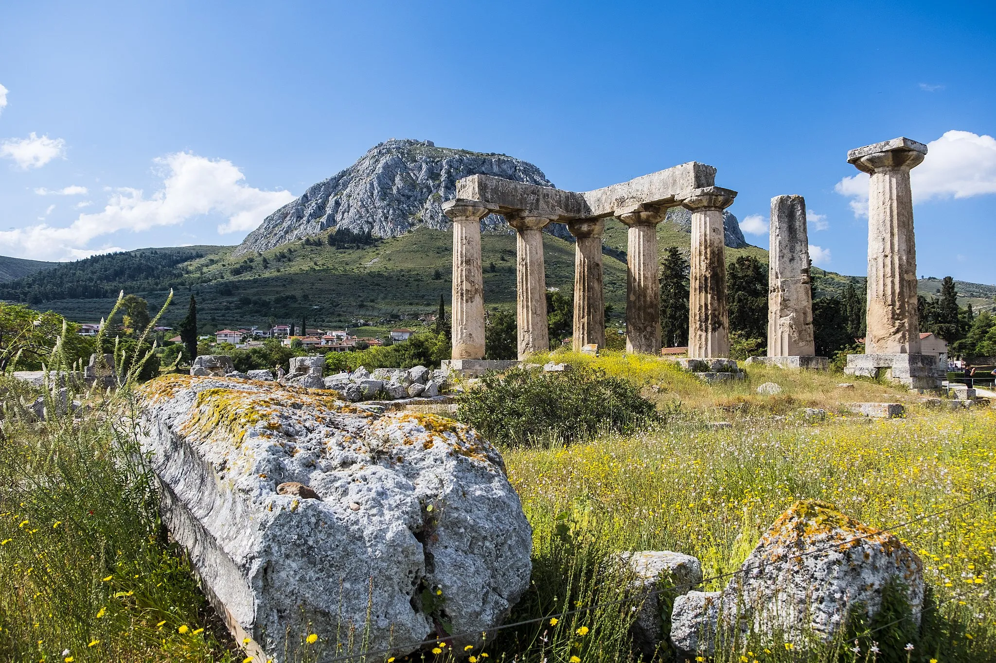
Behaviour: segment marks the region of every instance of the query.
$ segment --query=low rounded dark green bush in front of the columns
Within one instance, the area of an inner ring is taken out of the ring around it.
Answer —
[[[569,443],[659,419],[635,386],[598,369],[544,372],[515,368],[489,374],[457,397],[457,417],[508,446]]]

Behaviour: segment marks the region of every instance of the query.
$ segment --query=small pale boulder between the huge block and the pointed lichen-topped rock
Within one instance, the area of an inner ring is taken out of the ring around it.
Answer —
[[[702,565],[690,555],[671,551],[622,553],[620,560],[632,575],[629,598],[640,606],[631,630],[633,642],[652,656],[670,635],[670,620],[664,621],[662,608],[702,582]]]

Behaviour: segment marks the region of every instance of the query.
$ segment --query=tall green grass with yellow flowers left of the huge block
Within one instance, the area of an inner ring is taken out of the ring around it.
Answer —
[[[145,357],[117,354],[114,392],[73,380],[35,390],[0,377],[4,660],[231,658],[189,564],[166,538],[138,450],[131,388]],[[58,345],[48,368],[71,368]],[[25,407],[37,398],[43,418]]]

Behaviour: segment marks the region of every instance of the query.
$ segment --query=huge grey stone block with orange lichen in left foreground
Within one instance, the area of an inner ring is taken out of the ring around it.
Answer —
[[[293,653],[305,628],[335,643],[340,626],[406,654],[443,620],[487,631],[529,584],[501,456],[462,424],[278,383],[167,376],[139,393],[164,521],[258,660],[283,660],[285,629]]]

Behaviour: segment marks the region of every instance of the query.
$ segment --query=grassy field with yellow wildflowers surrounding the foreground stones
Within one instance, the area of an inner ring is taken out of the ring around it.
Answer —
[[[627,660],[632,616],[624,579],[606,566],[619,551],[694,555],[709,578],[736,569],[798,499],[824,499],[885,527],[996,490],[992,409],[929,410],[871,381],[841,388],[843,377],[833,374],[751,369],[744,383],[709,387],[649,357],[555,358],[631,380],[670,415],[628,436],[503,450],[534,528],[534,581],[509,621],[540,621],[500,631],[483,652],[493,660]],[[783,393],[758,395],[756,386],[769,381]],[[93,397],[94,409],[80,420],[39,424],[15,407],[33,396],[10,383],[3,388],[0,660],[242,661],[161,530],[128,417],[103,415],[130,412],[126,390],[113,403]],[[890,420],[847,415],[839,405],[903,399],[907,416]],[[830,414],[807,419],[804,407]],[[710,425],[717,420],[731,427]],[[752,641],[716,660],[992,660],[994,506],[977,502],[895,531],[924,562],[938,604],[908,659],[905,651],[870,658],[865,638],[861,655],[841,642],[789,643],[790,650]],[[551,618],[565,608],[583,609]],[[880,645],[887,648],[884,636]],[[296,660],[335,651],[322,641],[303,647]],[[427,660],[451,657],[440,651]],[[484,659],[478,651],[470,663]]]

